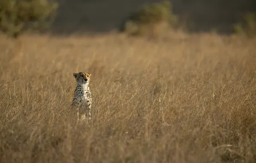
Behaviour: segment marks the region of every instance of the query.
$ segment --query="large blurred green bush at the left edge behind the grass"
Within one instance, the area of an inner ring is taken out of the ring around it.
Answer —
[[[25,30],[44,29],[57,8],[57,3],[48,0],[0,0],[0,31],[17,37]]]

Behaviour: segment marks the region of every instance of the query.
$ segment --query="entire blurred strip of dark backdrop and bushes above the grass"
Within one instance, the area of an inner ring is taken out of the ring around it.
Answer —
[[[0,31],[15,37],[34,27],[53,35],[103,33],[123,27],[128,33],[141,34],[146,26],[164,31],[163,22],[190,33],[230,34],[235,29],[251,36],[256,33],[256,0],[0,1]]]

